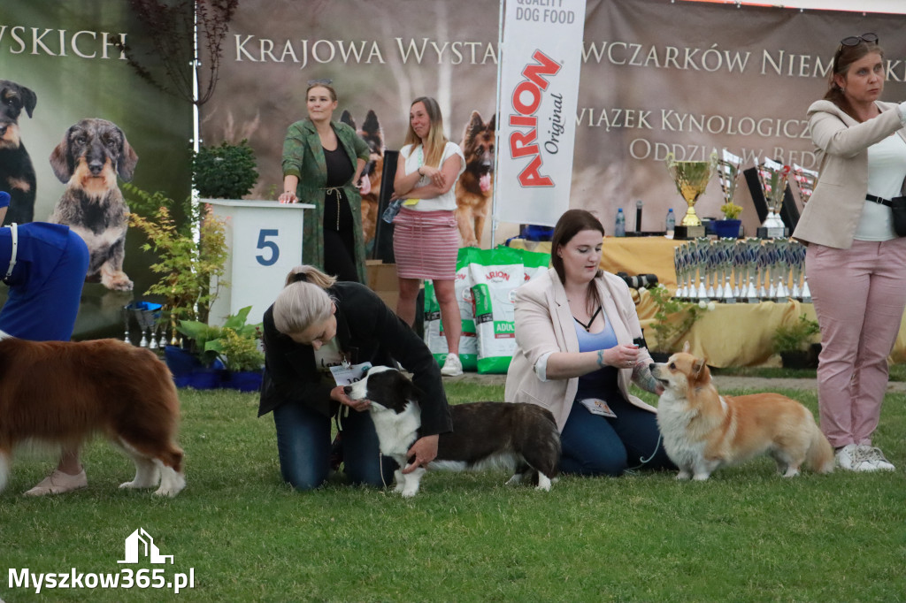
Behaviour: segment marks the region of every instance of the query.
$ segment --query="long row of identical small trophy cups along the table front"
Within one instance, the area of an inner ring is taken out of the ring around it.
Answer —
[[[698,238],[676,247],[677,291],[687,302],[812,302],[805,245],[794,240]]]

